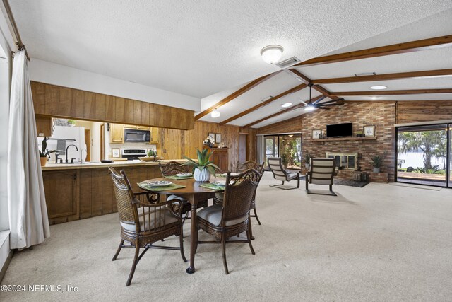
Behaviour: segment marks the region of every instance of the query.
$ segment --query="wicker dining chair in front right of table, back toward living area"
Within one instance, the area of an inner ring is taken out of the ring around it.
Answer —
[[[203,243],[221,243],[223,266],[225,273],[229,274],[226,261],[226,243],[248,243],[251,253],[254,255],[251,236],[249,233],[249,211],[251,202],[256,192],[262,173],[257,170],[246,170],[239,175],[231,176],[230,172],[226,175],[225,199],[223,204],[213,204],[198,212],[197,227],[214,236],[216,240],[201,241]],[[237,236],[246,231],[246,240],[228,240],[232,236]]]

